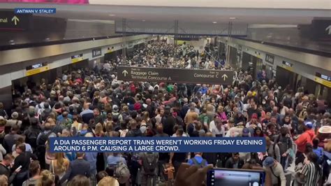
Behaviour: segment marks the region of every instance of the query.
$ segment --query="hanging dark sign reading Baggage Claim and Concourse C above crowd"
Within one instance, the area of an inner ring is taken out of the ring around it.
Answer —
[[[117,76],[118,80],[127,81],[232,85],[234,72],[119,66]]]

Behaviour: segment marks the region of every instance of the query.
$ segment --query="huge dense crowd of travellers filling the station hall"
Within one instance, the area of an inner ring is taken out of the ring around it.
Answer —
[[[15,90],[10,113],[0,103],[0,185],[202,185],[209,164],[260,167],[270,185],[281,186],[294,165],[295,185],[329,183],[330,105],[303,87],[254,80],[245,70],[236,71],[233,85],[117,80],[119,65],[230,69],[212,50],[211,43],[199,52],[155,42],[93,70],[64,72],[54,83],[27,82]],[[50,153],[49,138],[57,136],[254,136],[267,147],[258,153]]]

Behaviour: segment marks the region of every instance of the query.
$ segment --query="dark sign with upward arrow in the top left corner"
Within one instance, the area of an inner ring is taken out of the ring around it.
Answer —
[[[16,15],[11,11],[0,11],[0,30],[22,31],[29,28],[31,14]]]

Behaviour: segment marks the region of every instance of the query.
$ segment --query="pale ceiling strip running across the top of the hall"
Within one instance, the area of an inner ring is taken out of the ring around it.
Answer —
[[[57,8],[54,15],[75,20],[127,20],[171,22],[196,22],[217,24],[310,24],[314,17],[331,17],[330,10],[276,9],[276,8],[199,8],[160,6],[101,6],[60,5],[36,3],[1,3],[1,8]],[[235,17],[235,20],[230,20]]]

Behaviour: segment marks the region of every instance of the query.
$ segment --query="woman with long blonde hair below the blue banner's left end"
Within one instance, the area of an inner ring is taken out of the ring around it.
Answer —
[[[50,172],[61,179],[69,168],[69,160],[64,157],[63,152],[55,153],[55,159],[50,163]]]

